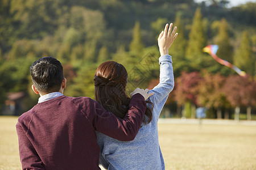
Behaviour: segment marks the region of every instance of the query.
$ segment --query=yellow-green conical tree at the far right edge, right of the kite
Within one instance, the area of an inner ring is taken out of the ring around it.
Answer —
[[[234,64],[246,73],[255,74],[255,57],[247,31],[242,33],[240,46],[234,56]]]

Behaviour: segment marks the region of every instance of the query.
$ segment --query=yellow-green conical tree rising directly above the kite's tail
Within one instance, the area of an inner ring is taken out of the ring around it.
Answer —
[[[218,45],[217,56],[233,63],[233,50],[230,44],[228,29],[226,19],[221,19],[218,25],[218,35],[216,36],[215,44]]]

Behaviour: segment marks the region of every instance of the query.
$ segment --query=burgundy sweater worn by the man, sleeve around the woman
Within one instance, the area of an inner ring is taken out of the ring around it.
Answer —
[[[23,169],[100,169],[95,130],[131,141],[141,127],[146,103],[131,99],[120,119],[89,97],[59,96],[38,103],[16,124]]]

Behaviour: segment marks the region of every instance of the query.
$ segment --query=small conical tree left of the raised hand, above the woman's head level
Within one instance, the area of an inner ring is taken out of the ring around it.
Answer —
[[[131,44],[129,49],[131,52],[141,53],[144,48],[142,38],[141,38],[141,28],[139,22],[136,22],[133,29],[133,40],[131,40]]]

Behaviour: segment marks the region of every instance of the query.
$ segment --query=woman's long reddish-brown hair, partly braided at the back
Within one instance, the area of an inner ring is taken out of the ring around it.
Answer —
[[[98,66],[93,82],[95,86],[96,101],[100,103],[106,111],[112,112],[119,118],[124,118],[129,110],[131,98],[126,95],[126,84],[128,74],[123,65],[115,61],[106,61]],[[154,105],[147,106],[144,124],[152,120],[152,109]]]

